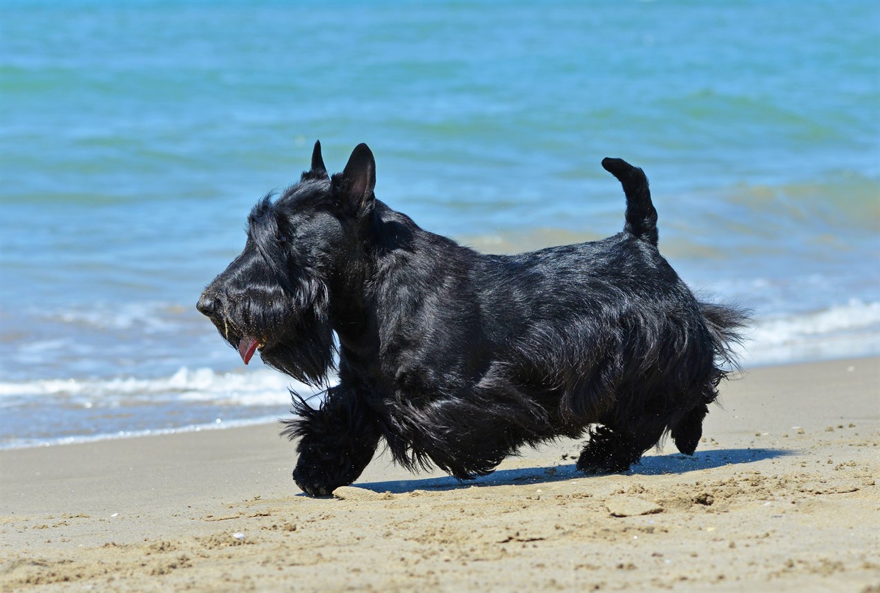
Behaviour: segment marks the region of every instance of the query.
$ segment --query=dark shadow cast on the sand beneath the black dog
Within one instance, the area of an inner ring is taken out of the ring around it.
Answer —
[[[710,470],[725,465],[755,463],[765,459],[794,455],[796,452],[780,448],[722,448],[713,451],[699,451],[693,456],[680,453],[642,457],[642,463],[634,465],[623,475],[656,476],[660,474],[685,474],[689,471]],[[607,475],[607,474],[605,474]],[[510,486],[517,484],[549,484],[572,478],[584,478],[575,464],[554,465],[552,467],[529,467],[517,470],[498,470],[488,476],[473,480],[459,480],[451,476],[443,478],[422,478],[393,480],[387,482],[365,482],[355,484],[358,488],[375,493],[411,493],[414,490],[440,492],[470,488],[472,486]]]

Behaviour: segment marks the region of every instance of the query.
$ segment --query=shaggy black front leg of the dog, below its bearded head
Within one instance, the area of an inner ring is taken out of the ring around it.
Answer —
[[[293,479],[312,496],[333,493],[361,475],[378,447],[378,417],[342,385],[331,388],[318,410],[294,401],[297,418],[286,421],[283,434],[298,438]]]

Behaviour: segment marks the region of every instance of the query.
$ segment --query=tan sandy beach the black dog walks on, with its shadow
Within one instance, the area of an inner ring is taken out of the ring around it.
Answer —
[[[750,371],[696,456],[578,443],[312,499],[277,426],[0,452],[0,589],[880,591],[880,359]]]

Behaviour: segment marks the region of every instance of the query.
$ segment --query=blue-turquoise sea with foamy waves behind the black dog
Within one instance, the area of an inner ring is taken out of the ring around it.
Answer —
[[[625,158],[747,365],[880,352],[875,3],[3,2],[0,446],[282,416],[194,302],[318,138],[487,251],[620,230]]]

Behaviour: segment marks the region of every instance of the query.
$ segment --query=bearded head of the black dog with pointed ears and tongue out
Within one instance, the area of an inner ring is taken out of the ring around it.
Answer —
[[[244,251],[196,306],[245,364],[259,350],[266,364],[298,381],[326,382],[334,363],[331,287],[343,285],[359,259],[375,184],[367,145],[331,178],[315,143],[300,181],[253,207]]]

